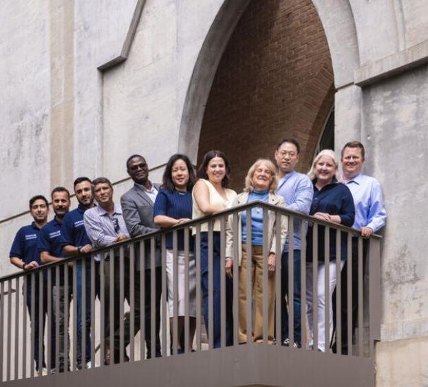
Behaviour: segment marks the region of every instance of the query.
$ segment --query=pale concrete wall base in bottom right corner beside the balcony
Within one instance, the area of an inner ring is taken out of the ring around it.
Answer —
[[[376,344],[377,387],[428,386],[428,337]]]

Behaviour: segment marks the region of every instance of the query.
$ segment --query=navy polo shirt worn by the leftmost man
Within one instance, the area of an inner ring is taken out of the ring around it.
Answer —
[[[21,227],[13,240],[9,258],[21,258],[25,264],[36,261],[39,265],[42,265],[38,248],[39,233],[40,229],[35,222]]]

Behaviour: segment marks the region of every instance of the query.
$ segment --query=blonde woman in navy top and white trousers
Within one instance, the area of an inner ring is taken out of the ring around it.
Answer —
[[[338,161],[334,152],[330,149],[324,149],[314,158],[312,167],[308,173],[314,184],[314,197],[312,206],[310,207],[310,215],[329,222],[343,224],[347,227],[352,227],[355,218],[354,200],[352,199],[351,191],[346,185],[337,182],[336,173]],[[308,320],[310,331],[310,344],[313,345],[313,290],[312,290],[312,225],[308,227],[306,236],[306,262],[308,262],[307,273],[307,302],[308,302]],[[330,246],[329,246],[329,293],[325,295],[325,260],[324,260],[324,240],[325,227],[318,227],[318,277],[317,277],[317,294],[318,294],[318,351],[325,352],[326,346],[330,345],[333,331],[333,311],[331,297],[336,286],[336,230],[330,229]],[[346,233],[341,233],[341,267],[343,267],[347,251],[347,236]],[[328,319],[330,340],[325,342],[325,297],[330,297],[330,317]]]

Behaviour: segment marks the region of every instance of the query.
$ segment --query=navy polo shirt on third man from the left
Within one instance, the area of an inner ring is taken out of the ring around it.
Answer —
[[[61,229],[61,247],[71,244],[72,246],[81,248],[85,244],[92,244],[87,236],[85,223],[83,222],[85,211],[85,208],[78,205],[76,209],[65,214]]]

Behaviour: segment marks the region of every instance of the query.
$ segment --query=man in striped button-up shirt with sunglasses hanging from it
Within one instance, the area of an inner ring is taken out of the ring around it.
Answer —
[[[85,222],[85,229],[89,240],[92,242],[92,247],[94,249],[100,247],[106,247],[122,240],[129,239],[129,233],[125,220],[122,215],[122,207],[115,204],[113,201],[113,187],[111,186],[110,180],[107,178],[96,178],[92,182],[92,187],[94,190],[94,197],[98,202],[98,206],[91,209],[87,209],[83,214],[83,219]],[[95,260],[100,260],[100,254],[96,255]],[[109,252],[103,253],[103,259],[105,260],[104,264],[104,289],[105,289],[105,315],[108,316],[109,306],[110,306],[110,277],[111,277],[111,266],[114,266],[114,346],[113,351],[111,351],[110,332],[109,324],[106,324],[107,329],[105,331],[105,363],[109,364],[111,354],[114,355],[114,362],[119,362],[120,356],[120,319],[123,318],[119,314],[120,312],[120,303],[123,304],[124,300],[120,300],[120,281],[124,282],[123,289],[124,295],[129,301],[129,253],[127,247],[124,247],[124,272],[120,276],[120,254],[119,249],[114,251],[114,265],[111,265],[109,262]],[[138,294],[136,293],[136,304],[139,304]],[[136,310],[136,318],[139,318],[139,311]],[[126,333],[129,332],[129,326],[125,326],[125,346],[124,359],[125,362],[128,361],[128,357],[125,353],[125,348],[129,344],[129,335]]]

